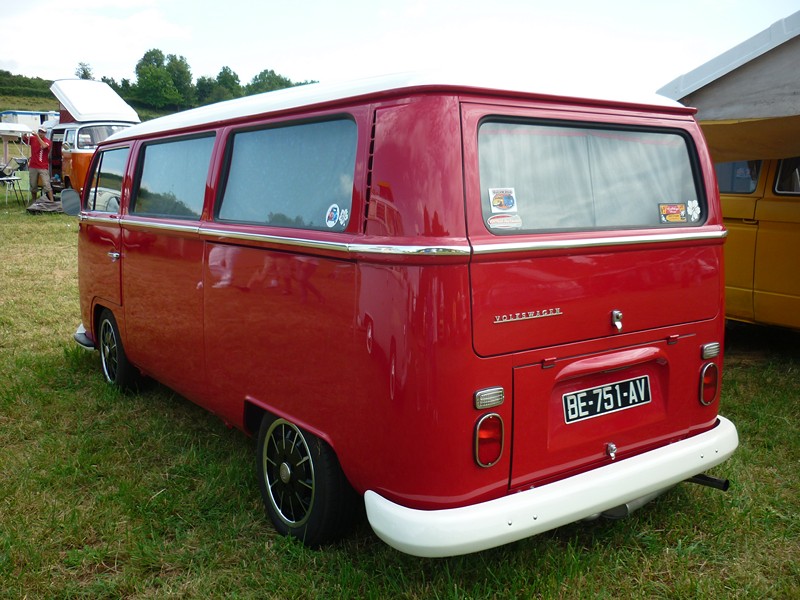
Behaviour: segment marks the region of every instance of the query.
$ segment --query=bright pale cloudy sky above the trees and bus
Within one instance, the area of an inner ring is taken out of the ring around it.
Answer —
[[[153,48],[242,84],[426,69],[652,93],[800,11],[800,0],[3,0],[0,69],[136,82]]]

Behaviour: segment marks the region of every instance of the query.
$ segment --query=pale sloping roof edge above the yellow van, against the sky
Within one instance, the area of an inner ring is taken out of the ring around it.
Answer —
[[[673,79],[659,89],[657,93],[673,100],[685,98],[692,92],[727,75],[762,54],[766,54],[797,35],[800,35],[800,11],[789,15],[785,19],[776,21],[750,39],[723,52],[716,58],[712,58],[696,69]]]

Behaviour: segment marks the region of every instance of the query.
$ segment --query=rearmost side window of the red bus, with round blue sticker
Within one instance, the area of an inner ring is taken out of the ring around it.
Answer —
[[[217,217],[344,231],[353,199],[356,137],[350,119],[234,134]]]

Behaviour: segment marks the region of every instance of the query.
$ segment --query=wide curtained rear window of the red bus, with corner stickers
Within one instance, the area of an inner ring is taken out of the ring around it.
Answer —
[[[478,132],[494,234],[700,225],[686,138],[669,131],[489,120]]]

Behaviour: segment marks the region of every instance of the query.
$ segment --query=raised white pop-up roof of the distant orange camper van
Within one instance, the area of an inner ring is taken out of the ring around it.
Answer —
[[[139,123],[139,115],[104,81],[58,79],[50,91],[76,121]]]

